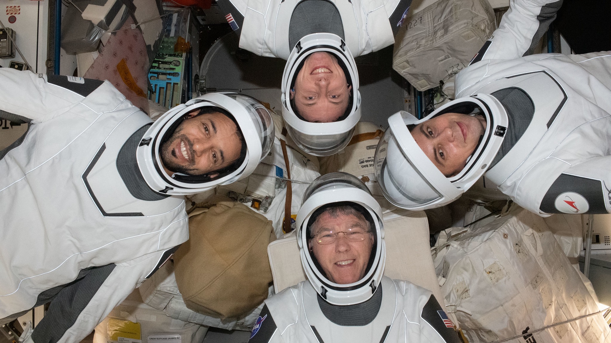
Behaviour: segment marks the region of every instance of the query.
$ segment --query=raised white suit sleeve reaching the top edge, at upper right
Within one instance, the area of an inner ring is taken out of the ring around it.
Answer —
[[[511,0],[499,28],[471,64],[482,59],[510,60],[532,54],[560,5],[562,0]]]

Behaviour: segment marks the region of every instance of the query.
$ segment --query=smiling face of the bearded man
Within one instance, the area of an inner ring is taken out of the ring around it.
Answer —
[[[168,175],[202,175],[232,164],[240,157],[241,139],[235,123],[220,112],[188,114],[161,146],[161,161]]]

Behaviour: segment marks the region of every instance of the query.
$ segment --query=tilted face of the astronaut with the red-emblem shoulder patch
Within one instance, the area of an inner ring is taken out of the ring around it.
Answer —
[[[416,125],[411,134],[433,164],[450,177],[463,170],[485,129],[481,115],[446,113]]]

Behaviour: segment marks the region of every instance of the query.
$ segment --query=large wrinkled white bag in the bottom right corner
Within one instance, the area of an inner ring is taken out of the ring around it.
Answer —
[[[602,314],[533,333],[599,311],[543,218],[517,208],[462,230],[448,229],[433,252],[447,309],[470,343],[611,342]]]

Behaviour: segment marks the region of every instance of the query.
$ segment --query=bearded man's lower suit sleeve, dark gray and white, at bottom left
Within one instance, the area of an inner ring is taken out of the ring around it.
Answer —
[[[172,249],[90,269],[53,298],[45,317],[24,343],[78,343],[115,306],[152,275]]]

